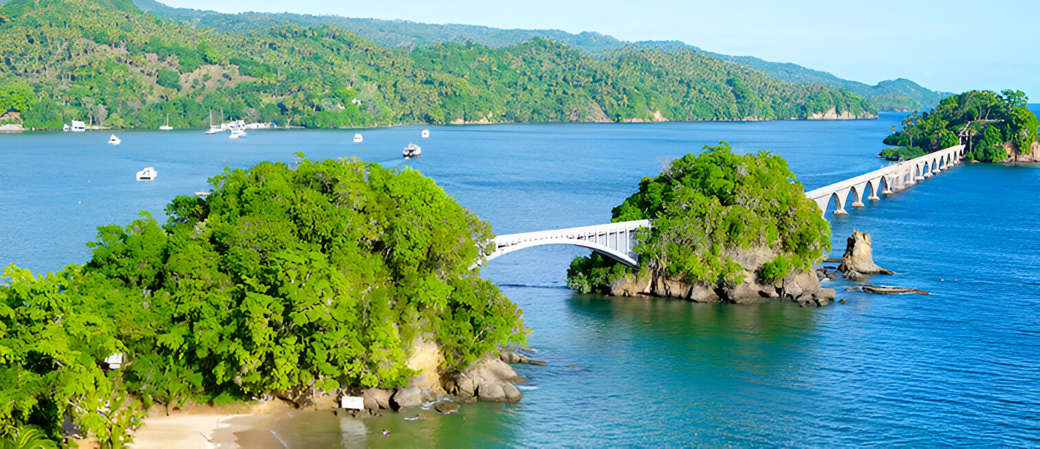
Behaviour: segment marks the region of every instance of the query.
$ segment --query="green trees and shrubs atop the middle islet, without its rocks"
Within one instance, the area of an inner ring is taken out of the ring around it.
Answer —
[[[635,247],[650,272],[710,286],[734,284],[749,272],[771,282],[808,270],[830,250],[827,220],[794,179],[779,156],[738,156],[723,142],[643,178],[639,192],[613,209],[614,221],[654,220]],[[772,261],[734,261],[735,251],[752,249],[765,249]],[[601,258],[578,258],[568,284],[586,289],[618,274]]]

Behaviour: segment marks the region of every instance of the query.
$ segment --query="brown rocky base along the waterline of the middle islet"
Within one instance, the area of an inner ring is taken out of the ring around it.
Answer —
[[[748,275],[735,285],[714,288],[703,283],[688,283],[659,275],[629,276],[612,282],[610,294],[676,298],[695,303],[736,304],[783,299],[802,306],[826,306],[834,302],[836,292],[833,288],[822,288],[814,272],[797,272],[773,284],[759,284],[753,275]]]

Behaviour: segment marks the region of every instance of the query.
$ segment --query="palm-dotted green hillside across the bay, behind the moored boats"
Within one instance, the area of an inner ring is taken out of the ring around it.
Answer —
[[[331,25],[213,32],[125,0],[14,0],[0,16],[0,87],[29,86],[32,101],[16,109],[43,129],[71,119],[157,128],[167,115],[175,128],[198,128],[211,111],[313,128],[876,112],[849,91],[693,50],[594,58],[544,37],[388,50]]]

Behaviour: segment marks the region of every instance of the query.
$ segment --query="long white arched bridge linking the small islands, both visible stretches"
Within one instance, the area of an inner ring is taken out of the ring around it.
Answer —
[[[851,177],[829,186],[813,189],[805,196],[816,202],[820,214],[827,214],[831,201],[835,215],[848,214],[846,204],[852,194],[852,207],[863,207],[863,195],[867,200],[880,200],[881,194],[890,194],[916,185],[942,170],[960,163],[964,158],[964,145],[951,146],[935,152],[889,165],[869,173]],[[495,252],[488,260],[524,248],[542,245],[576,245],[589,248],[628,266],[639,265],[639,255],[632,251],[635,232],[640,228],[650,228],[650,220],[635,220],[581,226],[566,229],[551,229],[495,236]]]

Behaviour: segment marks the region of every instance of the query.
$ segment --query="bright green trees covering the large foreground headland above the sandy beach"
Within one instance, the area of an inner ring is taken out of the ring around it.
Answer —
[[[0,286],[0,437],[69,415],[118,444],[142,405],[404,385],[419,335],[461,368],[525,330],[470,270],[491,228],[430,178],[358,161],[226,170],[103,226],[82,266]],[[116,370],[100,361],[126,354]]]

